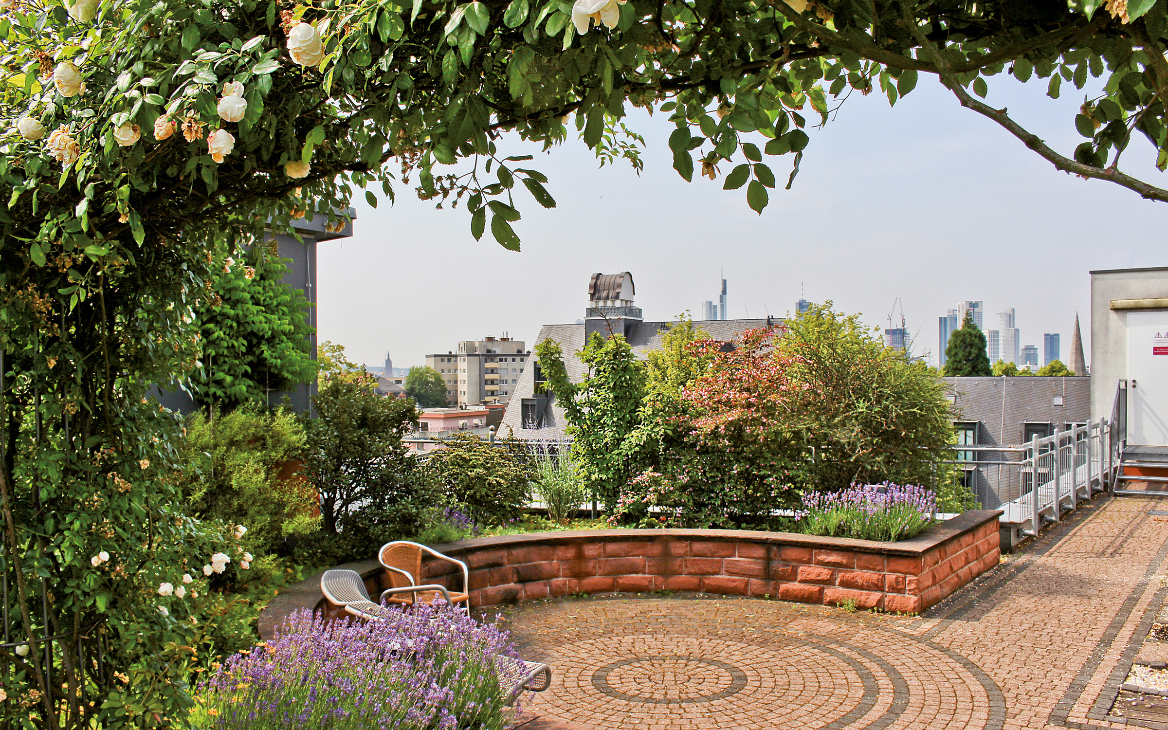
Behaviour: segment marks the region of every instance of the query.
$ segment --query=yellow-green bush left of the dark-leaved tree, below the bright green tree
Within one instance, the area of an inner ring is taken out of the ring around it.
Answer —
[[[190,514],[248,526],[249,550],[276,552],[284,537],[296,533],[292,521],[317,507],[317,495],[300,473],[304,451],[304,430],[284,409],[267,412],[244,405],[214,419],[192,416],[179,472]]]

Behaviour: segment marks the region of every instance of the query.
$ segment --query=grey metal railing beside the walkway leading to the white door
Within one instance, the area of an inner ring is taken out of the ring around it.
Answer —
[[[1034,436],[1028,444],[954,445],[954,452],[968,457],[947,463],[973,467],[976,484],[972,488],[982,506],[1001,509],[1003,524],[1036,536],[1044,524],[1062,520],[1064,510],[1076,509],[1079,500],[1112,488],[1118,443],[1111,424],[1100,418],[1056,429],[1047,437]],[[971,458],[974,454],[997,458]]]

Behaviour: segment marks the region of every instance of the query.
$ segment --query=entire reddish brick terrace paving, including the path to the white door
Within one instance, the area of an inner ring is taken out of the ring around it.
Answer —
[[[696,595],[505,609],[554,670],[524,730],[1168,730],[1111,715],[1168,590],[1163,508],[1099,498],[923,617]]]

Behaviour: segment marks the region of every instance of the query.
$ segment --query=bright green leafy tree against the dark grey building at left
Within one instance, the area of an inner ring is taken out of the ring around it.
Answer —
[[[224,411],[249,401],[270,405],[271,391],[317,377],[308,300],[283,280],[288,260],[262,246],[242,262],[224,260],[211,300],[196,307],[203,367],[189,382],[201,402]]]

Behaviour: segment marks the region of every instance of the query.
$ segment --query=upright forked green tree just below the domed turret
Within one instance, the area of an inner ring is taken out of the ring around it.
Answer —
[[[607,339],[593,333],[579,352],[588,367],[584,380],[573,383],[564,367],[563,350],[554,340],[535,347],[547,382],[568,417],[573,437],[572,459],[590,492],[607,507],[632,477],[640,442],[631,439],[641,423],[645,367],[623,335]]]

